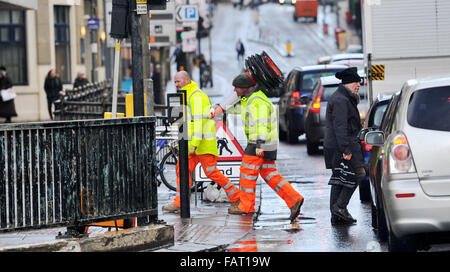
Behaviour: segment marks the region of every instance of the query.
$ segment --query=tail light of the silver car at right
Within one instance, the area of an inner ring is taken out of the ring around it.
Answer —
[[[392,138],[389,152],[389,172],[390,174],[416,172],[408,140],[401,133]]]

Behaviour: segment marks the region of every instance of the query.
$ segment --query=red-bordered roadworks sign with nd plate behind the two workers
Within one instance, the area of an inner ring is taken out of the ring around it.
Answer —
[[[216,139],[219,151],[217,168],[230,180],[239,180],[244,150],[222,121],[216,123]],[[210,180],[200,164],[195,167],[195,180]]]

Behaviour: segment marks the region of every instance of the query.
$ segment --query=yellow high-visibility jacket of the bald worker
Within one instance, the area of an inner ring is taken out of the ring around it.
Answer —
[[[197,147],[196,154],[212,154],[219,156],[216,142],[216,124],[209,118],[211,101],[208,95],[200,90],[197,84],[191,83],[182,88],[186,90],[188,146]]]

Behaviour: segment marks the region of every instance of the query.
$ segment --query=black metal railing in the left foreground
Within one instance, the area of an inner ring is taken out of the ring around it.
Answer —
[[[0,126],[0,231],[157,217],[155,117]]]

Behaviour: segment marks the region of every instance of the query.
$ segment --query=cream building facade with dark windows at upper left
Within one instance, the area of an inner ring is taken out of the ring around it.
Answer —
[[[49,120],[44,81],[55,69],[65,89],[79,72],[105,79],[102,0],[0,0],[0,65],[13,80],[18,117]]]

